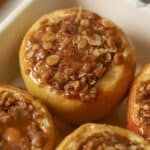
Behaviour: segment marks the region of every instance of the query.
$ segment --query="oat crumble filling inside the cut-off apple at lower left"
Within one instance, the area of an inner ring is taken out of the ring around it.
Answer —
[[[21,94],[0,91],[0,149],[42,150],[48,138],[43,118]]]

